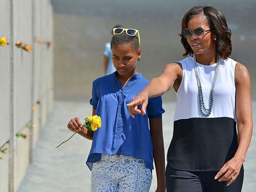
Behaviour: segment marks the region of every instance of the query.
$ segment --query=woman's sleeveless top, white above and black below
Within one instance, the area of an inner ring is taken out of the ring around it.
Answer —
[[[236,153],[235,66],[236,61],[220,61],[218,79],[214,88],[212,113],[200,113],[198,88],[193,57],[179,61],[183,76],[177,96],[173,137],[167,162],[175,169],[186,171],[215,171]],[[209,108],[209,95],[216,63],[197,63],[204,104]]]

